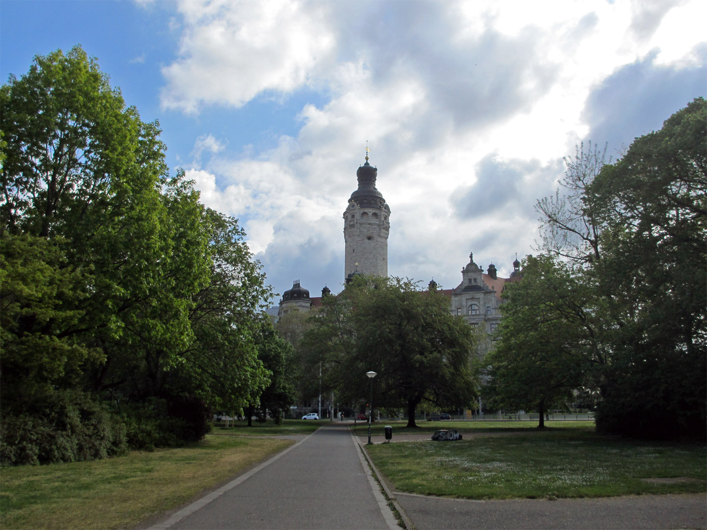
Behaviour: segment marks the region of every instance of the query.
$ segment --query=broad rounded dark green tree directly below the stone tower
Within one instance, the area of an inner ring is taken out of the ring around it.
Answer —
[[[409,280],[357,278],[322,301],[305,341],[344,399],[367,397],[366,372],[377,372],[375,404],[404,407],[409,427],[422,401],[466,406],[476,393],[472,329],[450,314],[444,295]]]

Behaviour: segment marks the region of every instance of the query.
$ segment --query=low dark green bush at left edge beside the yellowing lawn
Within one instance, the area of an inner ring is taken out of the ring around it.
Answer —
[[[126,450],[124,425],[92,396],[56,391],[43,398],[32,413],[3,415],[0,464],[93,460]]]

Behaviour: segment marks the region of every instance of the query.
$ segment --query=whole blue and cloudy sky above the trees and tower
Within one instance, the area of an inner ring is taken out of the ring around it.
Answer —
[[[368,142],[388,273],[453,288],[469,252],[500,276],[537,252],[578,143],[615,160],[706,95],[705,20],[703,0],[2,0],[0,76],[83,46],[280,294],[341,289]]]

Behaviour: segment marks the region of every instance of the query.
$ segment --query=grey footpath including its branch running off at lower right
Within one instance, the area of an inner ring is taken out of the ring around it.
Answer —
[[[351,435],[349,422],[324,425],[150,530],[399,529],[359,447],[365,443]],[[385,488],[419,530],[707,529],[701,493],[479,501]]]

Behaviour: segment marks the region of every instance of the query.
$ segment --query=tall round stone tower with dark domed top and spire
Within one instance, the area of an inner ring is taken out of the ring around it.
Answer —
[[[358,167],[358,189],[351,194],[344,211],[344,279],[356,272],[370,276],[388,276],[388,232],[390,208],[375,189],[378,169],[368,163]]]

